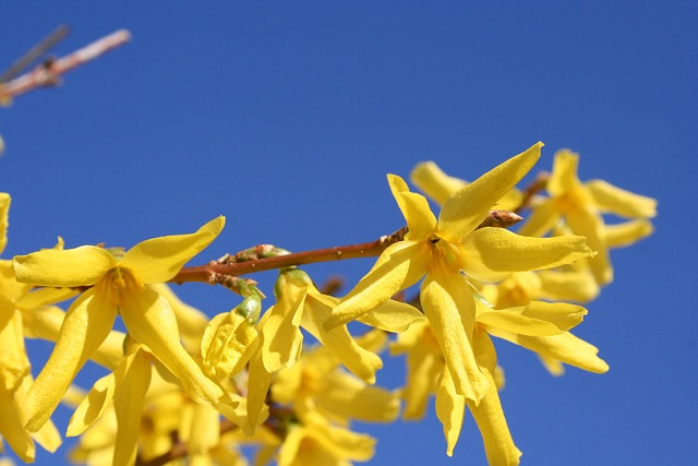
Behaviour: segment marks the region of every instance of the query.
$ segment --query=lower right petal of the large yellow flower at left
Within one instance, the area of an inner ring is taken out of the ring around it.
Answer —
[[[128,282],[133,278],[128,276]],[[170,304],[152,289],[129,283],[120,307],[129,334],[146,345],[181,382],[196,403],[216,406],[222,389],[208,379],[180,343],[177,318]]]

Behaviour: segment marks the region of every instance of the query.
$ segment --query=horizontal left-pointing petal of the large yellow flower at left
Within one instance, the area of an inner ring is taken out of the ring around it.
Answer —
[[[56,288],[94,285],[116,265],[111,253],[95,246],[44,249],[14,256],[17,282]]]

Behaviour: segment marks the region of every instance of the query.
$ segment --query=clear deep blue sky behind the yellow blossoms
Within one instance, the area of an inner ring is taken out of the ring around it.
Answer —
[[[61,87],[0,109],[3,258],[58,235],[130,247],[219,214],[227,227],[195,264],[257,243],[364,242],[404,225],[387,172],[433,159],[474,179],[539,140],[542,170],[569,147],[582,180],[653,196],[659,217],[652,237],[613,251],[615,283],[576,332],[609,373],[555,379],[497,342],[522,464],[695,462],[698,3],[465,3],[2,2],[0,68],[59,24],[72,28],[59,56],[133,34]],[[353,283],[370,265],[305,270]],[[256,277],[269,295],[273,277]],[[209,315],[238,302],[200,284],[178,291]],[[50,348],[32,345],[37,365]],[[378,382],[399,386],[402,363]],[[80,381],[99,375],[89,367]],[[57,413],[61,430],[69,416]],[[421,423],[356,428],[378,439],[373,465],[485,462],[470,416],[446,456],[433,405]],[[37,463],[63,464],[70,445]]]

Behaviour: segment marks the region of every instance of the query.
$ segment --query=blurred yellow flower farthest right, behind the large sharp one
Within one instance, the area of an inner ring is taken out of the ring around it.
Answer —
[[[613,280],[609,248],[626,246],[651,234],[647,218],[657,215],[657,201],[616,188],[602,180],[582,183],[577,176],[579,156],[568,150],[555,154],[553,171],[547,181],[550,198],[531,212],[519,232],[542,236],[562,217],[575,235],[587,237],[587,243],[598,254],[589,261],[600,285]],[[634,222],[606,226],[603,214],[611,213]]]

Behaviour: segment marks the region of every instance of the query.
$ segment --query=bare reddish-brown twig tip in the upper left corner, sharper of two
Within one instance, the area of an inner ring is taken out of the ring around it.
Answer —
[[[131,33],[125,29],[120,29],[63,58],[39,64],[20,77],[9,83],[0,84],[0,101],[10,101],[13,97],[39,87],[56,85],[61,74],[94,60],[100,55],[128,43],[130,39]]]

